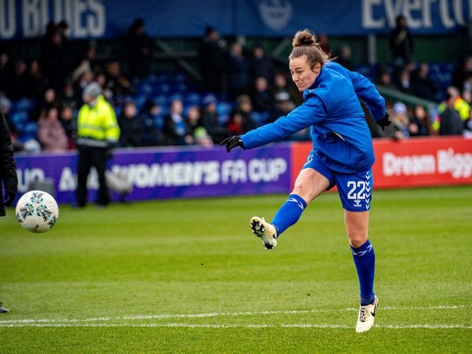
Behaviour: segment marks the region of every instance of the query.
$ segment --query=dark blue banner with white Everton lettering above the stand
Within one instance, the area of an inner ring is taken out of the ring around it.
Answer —
[[[388,33],[403,14],[414,34],[456,33],[471,18],[468,0],[0,0],[0,40],[38,38],[67,21],[70,38],[116,38],[141,17],[151,37],[292,36]]]

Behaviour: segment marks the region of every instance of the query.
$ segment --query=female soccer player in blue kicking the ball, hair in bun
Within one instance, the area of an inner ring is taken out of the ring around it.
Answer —
[[[350,72],[323,53],[309,30],[294,36],[289,55],[292,80],[303,92],[304,103],[285,117],[258,127],[245,135],[224,139],[230,152],[234,147],[253,149],[311,127],[313,149],[301,169],[294,190],[270,224],[253,217],[251,229],[265,249],[274,249],[277,238],[296,223],[306,206],[323,191],[338,187],[345,210],[345,228],[357,268],[360,308],[356,331],[374,325],[378,299],[374,295],[375,256],[368,239],[372,198],[374,149],[358,97],[384,129],[391,122],[385,100],[364,76]]]

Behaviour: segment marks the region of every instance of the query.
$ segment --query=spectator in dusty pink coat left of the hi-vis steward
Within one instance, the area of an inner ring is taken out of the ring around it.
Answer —
[[[45,151],[64,151],[69,148],[69,139],[59,122],[57,108],[48,108],[38,120],[38,140]]]

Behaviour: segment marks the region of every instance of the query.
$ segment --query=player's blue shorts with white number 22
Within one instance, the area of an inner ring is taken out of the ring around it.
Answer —
[[[343,208],[350,212],[365,212],[370,210],[372,200],[372,188],[374,188],[374,177],[372,169],[356,173],[339,173],[331,171],[318,158],[314,152],[310,152],[303,169],[314,169],[328,178],[330,188],[338,187]]]

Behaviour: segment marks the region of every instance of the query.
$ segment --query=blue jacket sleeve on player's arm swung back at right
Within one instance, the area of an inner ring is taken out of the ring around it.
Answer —
[[[367,105],[372,118],[381,120],[385,115],[385,99],[380,96],[379,91],[375,88],[369,79],[358,72],[351,72],[345,69],[349,74],[352,85],[356,91],[357,97],[362,99]]]

